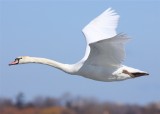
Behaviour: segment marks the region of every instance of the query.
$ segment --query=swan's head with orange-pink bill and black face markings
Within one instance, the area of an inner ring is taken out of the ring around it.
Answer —
[[[29,60],[30,60],[29,56],[20,56],[15,58],[15,60],[11,62],[9,65],[25,64],[25,63],[28,63]]]

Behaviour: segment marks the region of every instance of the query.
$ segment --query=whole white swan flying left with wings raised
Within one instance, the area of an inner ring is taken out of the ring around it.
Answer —
[[[58,68],[72,75],[80,75],[98,81],[119,81],[149,75],[147,72],[122,65],[124,44],[128,37],[117,34],[119,15],[108,8],[82,30],[86,37],[85,56],[75,64],[63,64],[54,60],[21,56],[9,65],[40,63]]]

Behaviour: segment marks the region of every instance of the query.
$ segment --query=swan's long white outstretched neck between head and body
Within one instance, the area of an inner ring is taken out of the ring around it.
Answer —
[[[54,60],[46,59],[46,58],[39,58],[39,57],[29,57],[26,63],[39,63],[49,65],[55,68],[58,68],[66,73],[74,74],[74,65],[63,64]]]

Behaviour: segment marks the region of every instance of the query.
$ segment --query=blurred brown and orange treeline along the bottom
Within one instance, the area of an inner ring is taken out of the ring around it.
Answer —
[[[25,101],[23,93],[14,100],[0,98],[0,114],[160,114],[160,102],[147,105],[99,102],[95,98],[36,97]]]

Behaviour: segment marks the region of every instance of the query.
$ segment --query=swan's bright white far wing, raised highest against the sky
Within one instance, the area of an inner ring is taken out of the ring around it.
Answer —
[[[114,10],[108,8],[101,15],[92,20],[83,28],[83,33],[86,37],[87,47],[85,56],[81,61],[85,61],[90,53],[89,44],[103,39],[111,38],[116,35],[116,28],[119,15]]]

